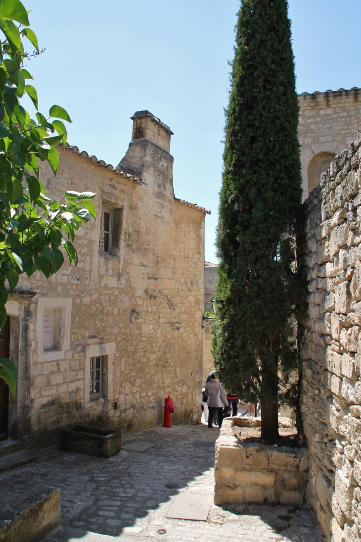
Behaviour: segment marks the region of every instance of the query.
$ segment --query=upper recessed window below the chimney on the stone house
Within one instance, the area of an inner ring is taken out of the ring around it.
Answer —
[[[120,255],[123,209],[103,205],[100,219],[99,251],[102,254]]]

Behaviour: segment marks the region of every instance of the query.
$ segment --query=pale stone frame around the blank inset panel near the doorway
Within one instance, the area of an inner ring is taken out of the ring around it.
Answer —
[[[65,352],[70,349],[70,326],[72,298],[39,298],[37,304],[36,338],[38,346],[38,361],[52,362],[65,359]],[[43,350],[43,315],[44,308],[63,309],[61,324],[61,349]]]

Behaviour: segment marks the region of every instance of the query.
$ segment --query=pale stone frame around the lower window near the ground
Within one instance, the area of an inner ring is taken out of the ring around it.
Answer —
[[[103,367],[102,367],[102,390],[101,396],[111,398],[113,396],[113,362],[114,362],[114,353],[115,353],[115,343],[98,343],[91,344],[86,346],[86,357],[85,357],[85,387],[84,387],[84,404],[86,406],[91,406],[96,402],[96,399],[90,398],[89,387],[90,387],[90,359],[102,357],[103,358]],[[99,401],[98,399],[98,401]]]

